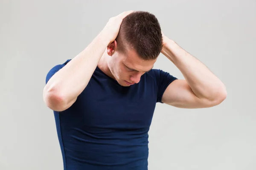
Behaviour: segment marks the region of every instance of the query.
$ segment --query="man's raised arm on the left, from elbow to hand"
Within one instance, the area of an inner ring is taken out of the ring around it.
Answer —
[[[54,111],[64,111],[76,102],[86,88],[99,60],[107,46],[119,32],[122,19],[132,11],[112,17],[97,37],[76,57],[57,71],[47,82],[43,99],[47,107]]]

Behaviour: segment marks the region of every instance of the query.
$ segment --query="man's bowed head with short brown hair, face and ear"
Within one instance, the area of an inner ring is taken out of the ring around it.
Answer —
[[[129,14],[123,19],[116,40],[107,48],[111,74],[122,86],[140,82],[141,76],[153,68],[162,47],[157,18],[145,11]]]

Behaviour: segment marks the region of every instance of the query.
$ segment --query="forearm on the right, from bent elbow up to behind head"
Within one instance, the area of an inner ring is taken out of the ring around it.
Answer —
[[[226,93],[225,85],[218,77],[167,37],[162,53],[177,66],[198,98],[215,100]]]

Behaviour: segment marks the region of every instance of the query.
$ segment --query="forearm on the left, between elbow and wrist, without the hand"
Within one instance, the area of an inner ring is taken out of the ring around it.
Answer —
[[[99,34],[81,53],[55,73],[44,88],[44,99],[63,107],[81,94],[107,48],[108,41]]]

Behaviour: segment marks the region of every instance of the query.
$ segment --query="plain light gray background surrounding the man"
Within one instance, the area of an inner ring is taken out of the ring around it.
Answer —
[[[1,0],[0,170],[63,169],[54,116],[42,97],[46,74],[126,10],[155,14],[163,32],[228,92],[213,108],[157,104],[149,170],[255,170],[255,0]],[[162,54],[154,68],[183,78]]]

